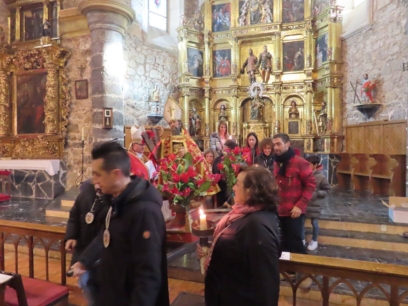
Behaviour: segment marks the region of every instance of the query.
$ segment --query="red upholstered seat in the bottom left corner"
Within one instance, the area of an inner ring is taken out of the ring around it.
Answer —
[[[22,276],[28,306],[68,306],[67,287]],[[7,286],[4,295],[7,306],[18,306],[16,290]]]

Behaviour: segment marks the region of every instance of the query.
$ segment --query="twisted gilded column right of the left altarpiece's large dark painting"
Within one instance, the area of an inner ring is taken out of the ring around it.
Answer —
[[[44,64],[47,69],[47,85],[44,98],[45,134],[58,133],[58,67]]]

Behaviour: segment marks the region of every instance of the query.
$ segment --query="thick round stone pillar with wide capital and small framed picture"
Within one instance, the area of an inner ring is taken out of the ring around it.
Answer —
[[[84,0],[79,6],[91,31],[91,97],[93,137],[118,138],[123,143],[123,37],[135,20],[135,11],[116,0]],[[113,128],[102,128],[102,109],[113,109]]]

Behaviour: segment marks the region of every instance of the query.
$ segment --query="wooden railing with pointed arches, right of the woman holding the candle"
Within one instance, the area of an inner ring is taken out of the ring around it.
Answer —
[[[331,258],[314,255],[291,254],[290,260],[280,260],[279,268],[282,275],[288,277],[284,271],[296,271],[304,275],[297,281],[288,279],[293,292],[293,306],[296,306],[296,296],[299,285],[308,278],[319,288],[322,294],[322,305],[329,305],[330,294],[341,283],[353,292],[355,305],[360,306],[366,293],[373,288],[378,288],[384,294],[390,306],[399,306],[408,297],[408,266],[381,264],[377,262],[364,262],[359,260]],[[316,276],[322,276],[320,282]],[[330,284],[330,277],[337,278]],[[353,286],[352,281],[368,282],[360,293]],[[387,292],[384,285],[389,285]]]

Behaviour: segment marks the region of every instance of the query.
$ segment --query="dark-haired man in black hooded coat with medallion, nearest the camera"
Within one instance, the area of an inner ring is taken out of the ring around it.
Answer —
[[[129,155],[120,144],[105,142],[95,147],[92,159],[94,184],[113,197],[103,228],[96,305],[168,306],[160,193],[147,180],[129,176]],[[94,239],[81,258],[100,244],[101,239]],[[83,263],[89,266],[90,262]]]

